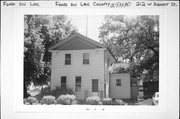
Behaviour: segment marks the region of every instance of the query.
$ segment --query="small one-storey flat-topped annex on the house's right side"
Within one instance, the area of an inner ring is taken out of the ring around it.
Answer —
[[[137,100],[137,79],[132,78],[128,70],[130,65],[115,62],[110,67],[110,97]]]

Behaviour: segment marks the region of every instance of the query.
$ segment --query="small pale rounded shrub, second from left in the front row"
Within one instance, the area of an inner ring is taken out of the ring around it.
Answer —
[[[56,100],[55,100],[55,97],[52,95],[44,96],[41,100],[41,104],[50,105],[50,104],[54,104],[54,103],[56,103]]]

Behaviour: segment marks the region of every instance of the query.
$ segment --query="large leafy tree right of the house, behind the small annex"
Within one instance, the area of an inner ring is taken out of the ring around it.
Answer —
[[[159,78],[159,16],[105,16],[100,41],[117,60],[131,63],[132,76]]]

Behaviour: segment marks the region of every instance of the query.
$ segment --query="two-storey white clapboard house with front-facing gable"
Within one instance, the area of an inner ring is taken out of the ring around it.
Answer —
[[[123,85],[123,82],[121,85],[116,85],[116,83],[110,85],[109,67],[116,60],[105,46],[86,36],[75,33],[50,47],[49,51],[52,52],[51,90],[56,86],[68,87],[79,99],[93,95],[104,98],[115,95],[112,90],[116,89],[109,86]],[[126,82],[130,82],[130,77],[127,80],[129,81]],[[124,91],[129,93],[126,97],[130,98],[130,84],[127,86],[126,84],[124,83],[126,87]],[[115,92],[118,93],[118,91]]]

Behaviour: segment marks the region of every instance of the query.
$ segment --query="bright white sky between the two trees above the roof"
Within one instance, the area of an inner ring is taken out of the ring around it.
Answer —
[[[87,30],[87,37],[99,42],[100,39],[98,38],[98,28],[102,25],[104,16],[70,15],[67,17],[68,19],[71,19],[71,23],[78,29],[80,34],[86,36]],[[88,24],[86,25],[86,23]]]

